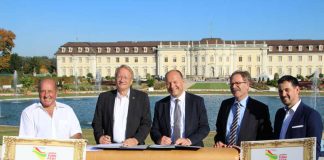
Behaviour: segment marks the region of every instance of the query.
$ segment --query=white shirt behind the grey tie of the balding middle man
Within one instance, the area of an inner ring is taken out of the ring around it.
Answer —
[[[180,122],[180,133],[181,138],[184,138],[184,131],[185,131],[185,104],[186,104],[186,92],[183,92],[179,98],[175,98],[171,96],[170,100],[170,125],[171,125],[171,138],[173,137],[173,127],[174,127],[174,108],[175,108],[175,99],[179,99],[179,106],[181,110],[181,122]],[[172,138],[173,139],[173,138]]]

